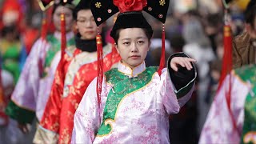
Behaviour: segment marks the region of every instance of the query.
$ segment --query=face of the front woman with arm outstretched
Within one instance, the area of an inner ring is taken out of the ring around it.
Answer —
[[[127,28],[119,31],[118,43],[115,46],[122,62],[134,68],[146,58],[150,42],[141,28]]]

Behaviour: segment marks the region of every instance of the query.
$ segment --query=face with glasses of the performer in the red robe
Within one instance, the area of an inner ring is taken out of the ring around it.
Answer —
[[[77,18],[77,29],[81,34],[81,39],[95,39],[97,35],[97,25],[94,21],[93,14],[91,10],[79,10]],[[101,33],[102,26],[99,26],[99,31]]]

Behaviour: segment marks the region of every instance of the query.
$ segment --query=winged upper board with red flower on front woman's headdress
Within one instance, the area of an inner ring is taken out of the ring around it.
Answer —
[[[118,11],[120,13],[127,13],[144,10],[162,23],[165,23],[169,3],[170,0],[92,0],[90,9],[94,14],[97,26],[118,13]]]

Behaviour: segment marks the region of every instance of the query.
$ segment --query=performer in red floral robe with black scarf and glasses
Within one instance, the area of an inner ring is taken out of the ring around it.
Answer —
[[[98,74],[96,35],[98,28],[90,10],[90,1],[81,0],[75,8],[77,49],[70,62],[64,59],[63,69],[55,73],[42,121],[34,137],[35,143],[70,143],[74,112],[87,86]],[[102,26],[99,27],[102,31]],[[102,42],[104,71],[117,65],[120,56],[113,44]],[[66,57],[68,58],[68,57]],[[62,71],[64,74],[62,74]],[[64,76],[64,77],[63,77]]]

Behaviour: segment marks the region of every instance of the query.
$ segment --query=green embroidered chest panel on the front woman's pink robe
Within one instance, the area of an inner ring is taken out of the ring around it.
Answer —
[[[139,74],[136,78],[129,78],[126,75],[120,73],[117,69],[106,72],[107,82],[114,83],[115,85],[110,90],[106,100],[106,106],[104,109],[102,126],[98,130],[98,135],[109,134],[112,130],[109,120],[114,121],[118,105],[123,98],[135,90],[146,86],[150,82],[157,67],[147,68],[142,74]],[[106,123],[105,123],[106,122]]]

